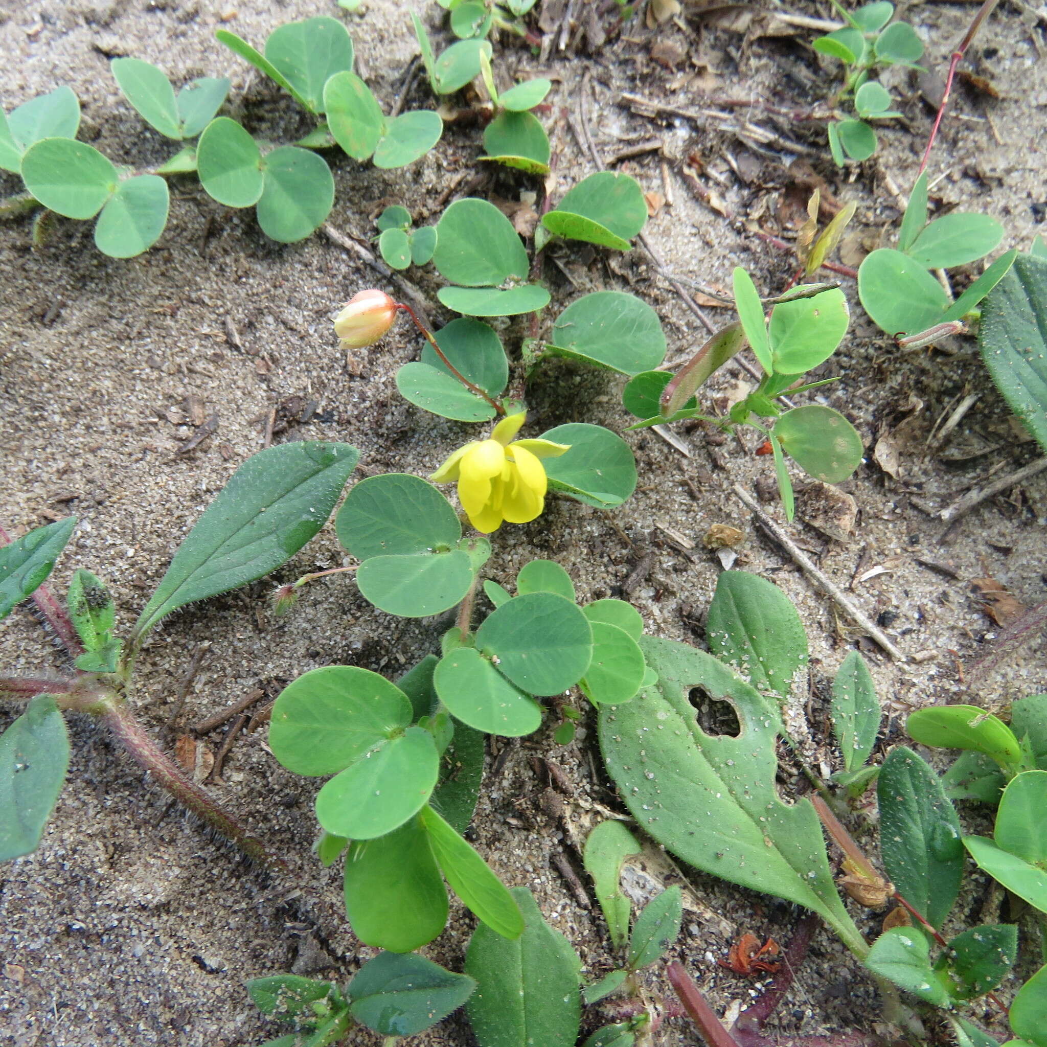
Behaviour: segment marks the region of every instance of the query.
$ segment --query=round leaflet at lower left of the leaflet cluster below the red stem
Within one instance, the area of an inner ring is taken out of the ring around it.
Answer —
[[[934,327],[950,305],[941,285],[923,266],[889,247],[862,262],[857,295],[873,322],[890,335]]]

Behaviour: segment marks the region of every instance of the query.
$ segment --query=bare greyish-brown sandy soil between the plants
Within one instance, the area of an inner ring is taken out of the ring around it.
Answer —
[[[436,6],[429,6],[436,24]],[[337,13],[333,4],[319,9]],[[911,8],[936,68],[962,35],[970,9],[951,4]],[[198,0],[5,5],[0,10],[6,70],[0,101],[9,110],[55,84],[69,84],[84,106],[82,138],[118,161],[160,162],[168,143],[122,102],[108,71],[109,58],[134,54],[176,79],[231,75],[233,115],[255,133],[291,140],[308,128],[300,113],[215,44],[213,34],[224,16],[235,15],[227,24],[260,43],[282,22],[317,10],[303,0],[258,0],[239,7]],[[827,14],[806,2],[798,2],[795,10]],[[416,49],[404,5],[372,0],[362,17],[349,22],[361,67],[388,106]],[[814,143],[807,159],[841,199],[859,202],[856,224],[864,246],[872,246],[897,220],[891,185],[911,184],[929,127],[928,110],[908,80],[899,77],[898,89],[911,130],[888,131],[877,160],[841,174],[827,165],[817,128],[773,128],[760,113],[744,111],[701,121],[650,119],[619,105],[618,94],[628,90],[704,108],[699,88],[705,86],[733,97],[762,90],[776,101],[807,106],[830,89],[831,73],[819,72],[800,42],[809,40],[809,32],[799,39],[743,38],[682,24],[656,34],[630,25],[625,39],[600,53],[586,55],[583,49],[566,60],[554,53],[543,67],[558,79],[555,111],[547,122],[561,188],[592,170],[564,118],[570,111],[577,120],[579,85],[587,71],[598,102],[591,107],[592,129],[604,156],[651,135],[663,139],[672,201],[651,220],[648,235],[672,272],[719,288],[728,286],[736,264],[749,267],[766,287],[781,287],[788,277],[787,259],[753,229],[778,231],[777,199],[787,182],[782,164],[796,154],[774,144],[771,155],[749,149],[729,130],[747,115],[790,139]],[[1047,200],[1047,67],[1038,62],[1042,30],[1042,24],[1030,25],[1006,4],[994,17],[971,67],[989,76],[1002,97],[987,101],[961,88],[932,164],[939,179],[934,195],[945,205],[999,217],[1007,228],[1004,246],[1028,246]],[[675,45],[681,57],[668,62],[675,68],[666,68],[664,55],[662,63],[651,59],[655,42]],[[510,69],[539,68],[537,59],[511,45],[504,61]],[[430,104],[417,80],[409,102]],[[477,152],[475,130],[461,128],[450,130],[432,155],[406,173],[337,160],[337,202],[330,221],[341,232],[365,238],[373,232],[369,216],[394,201],[406,204],[417,220],[435,220],[440,195],[468,182]],[[680,170],[691,153],[706,164],[703,184],[718,195],[733,219],[693,195]],[[634,175],[645,190],[665,193],[658,154],[628,159],[619,169]],[[512,174],[492,177],[485,192],[503,199],[518,199],[521,188],[532,187]],[[16,179],[0,177],[0,191],[17,187]],[[193,180],[177,182],[173,197],[171,223],[159,245],[131,262],[98,254],[87,223],[60,221],[39,250],[30,247],[28,223],[8,223],[0,231],[3,515],[21,533],[74,513],[80,527],[54,573],[54,585],[64,592],[75,566],[90,567],[111,583],[125,624],[134,620],[208,500],[237,465],[262,447],[266,418],[273,407],[287,407],[289,397],[314,400],[316,410],[308,423],[277,431],[276,440],[344,440],[361,449],[362,464],[373,471],[424,474],[472,431],[415,409],[396,393],[397,366],[420,348],[405,327],[357,354],[347,367],[330,328],[332,309],[362,287],[387,287],[358,258],[321,233],[293,246],[267,241],[251,213],[219,207]],[[669,359],[700,336],[691,314],[639,249],[604,258],[572,248],[556,257],[562,268],[547,264],[545,275],[557,306],[586,290],[631,287],[663,315]],[[413,270],[410,276],[432,295],[438,283],[430,270]],[[845,286],[853,294],[853,286]],[[436,304],[432,313],[440,315]],[[863,648],[892,717],[888,736],[893,740],[899,714],[965,692],[961,666],[984,653],[998,631],[974,599],[971,579],[993,576],[1026,605],[1047,597],[1047,477],[1041,474],[1009,497],[983,505],[945,532],[931,513],[984,477],[1030,461],[1034,446],[1017,439],[972,340],[959,341],[951,355],[923,350],[900,356],[856,303],[854,317],[841,352],[820,375],[842,378],[828,387],[826,402],[852,419],[870,450],[885,431],[913,419],[898,436],[899,475],[885,473],[870,455],[843,485],[859,508],[857,526],[846,540],[830,540],[801,522],[792,533],[823,571],[853,591],[868,615],[878,616],[907,655],[925,659],[895,663],[871,644]],[[512,342],[520,331],[510,325],[506,333]],[[728,397],[737,374],[719,376],[712,395]],[[532,432],[572,420],[621,429],[626,418],[620,386],[619,379],[551,362],[530,393]],[[962,423],[940,446],[929,445],[934,423],[968,393],[979,399]],[[190,397],[198,398],[207,415],[217,413],[219,426],[196,451],[176,455],[194,432]],[[507,581],[534,556],[552,557],[570,570],[580,595],[597,598],[620,593],[637,564],[649,562],[631,594],[648,629],[700,643],[700,617],[720,570],[700,539],[713,524],[744,529],[749,537],[738,565],[779,584],[810,634],[808,755],[831,770],[827,681],[856,633],[761,536],[733,497],[732,484],[753,489],[770,473],[770,460],[753,455],[752,439],[745,446],[733,440],[716,446],[700,431],[676,435],[688,455],[651,432],[628,437],[641,486],[614,517],[554,503],[539,521],[498,536],[490,571]],[[774,503],[766,509],[780,516]],[[648,553],[652,559],[646,561]],[[337,565],[341,557],[333,535],[325,532],[280,577],[290,580]],[[927,561],[944,563],[946,573],[928,567]],[[885,570],[868,577],[874,567]],[[859,580],[863,576],[866,580]],[[140,660],[135,693],[150,730],[163,729],[201,644],[209,647],[176,733],[252,688],[274,695],[316,666],[354,664],[396,674],[432,650],[445,627],[391,619],[340,578],[311,587],[290,618],[276,621],[266,603],[270,588],[269,582],[260,583],[194,607],[154,636]],[[65,667],[26,609],[0,626],[0,652],[5,671]],[[1047,686],[1042,653],[1008,669],[1013,678],[1007,687],[992,680],[975,699],[995,705],[1007,694]],[[8,712],[0,712],[0,727],[8,720]],[[245,867],[227,846],[187,821],[93,723],[73,717],[70,727],[70,778],[43,846],[0,870],[5,964],[0,966],[0,1044],[250,1047],[282,1030],[260,1019],[244,992],[245,979],[288,970],[344,979],[371,955],[341,918],[337,870],[319,869],[310,851],[314,784],[276,765],[266,751],[264,730],[238,741],[223,783],[214,789],[286,855],[293,870],[289,883],[273,883]],[[205,742],[214,752],[221,732]],[[545,786],[533,757],[553,760],[566,772],[566,795]],[[476,846],[508,883],[532,888],[553,926],[581,953],[586,972],[602,974],[611,962],[602,921],[580,907],[550,864],[563,851],[580,869],[571,839],[588,824],[594,803],[619,805],[596,771],[592,723],[565,748],[556,747],[545,729],[499,763],[496,778],[489,764],[474,823]],[[729,941],[742,931],[787,939],[799,914],[709,877],[693,875],[691,882],[697,908],[689,912],[676,955],[722,1010],[753,992],[751,983],[714,962]],[[975,889],[982,889],[977,882]],[[289,898],[295,891],[300,894]],[[870,929],[876,922],[867,914],[857,918]],[[470,927],[470,918],[456,910],[451,927],[427,954],[459,966]],[[648,984],[655,996],[667,992],[654,973]],[[781,1030],[868,1029],[875,1020],[874,998],[861,972],[820,933],[788,1005],[779,1012]],[[586,1017],[586,1027],[598,1024],[598,1015]],[[658,1040],[697,1042],[678,1020],[669,1021]],[[354,1032],[350,1042],[363,1045],[378,1038]],[[464,1021],[452,1019],[423,1042],[461,1047],[472,1040]]]

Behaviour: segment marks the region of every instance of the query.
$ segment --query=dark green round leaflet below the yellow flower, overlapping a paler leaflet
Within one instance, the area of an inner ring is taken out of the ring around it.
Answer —
[[[553,593],[529,593],[492,611],[476,631],[476,649],[529,694],[559,694],[593,659],[588,619]]]

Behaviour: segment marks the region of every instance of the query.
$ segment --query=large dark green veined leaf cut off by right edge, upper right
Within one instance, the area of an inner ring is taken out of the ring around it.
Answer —
[[[1047,451],[1045,332],[1047,259],[1019,254],[985,298],[978,347],[1007,405]]]

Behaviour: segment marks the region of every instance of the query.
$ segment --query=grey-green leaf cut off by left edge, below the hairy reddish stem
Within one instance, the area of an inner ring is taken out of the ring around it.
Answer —
[[[37,849],[68,767],[65,719],[41,694],[0,734],[0,862]]]

